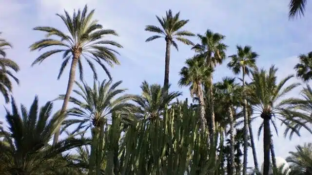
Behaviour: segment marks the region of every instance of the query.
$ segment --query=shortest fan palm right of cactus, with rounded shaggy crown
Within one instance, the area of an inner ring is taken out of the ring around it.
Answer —
[[[240,86],[235,83],[235,78],[224,77],[222,82],[215,84],[215,88],[223,94],[223,105],[222,108],[228,108],[228,116],[230,123],[230,175],[235,175],[235,164],[234,164],[234,130],[235,130],[235,119],[234,119],[234,104],[239,101]]]

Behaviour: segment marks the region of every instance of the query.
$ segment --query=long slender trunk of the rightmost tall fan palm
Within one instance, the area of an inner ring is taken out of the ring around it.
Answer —
[[[247,154],[248,154],[248,111],[247,100],[245,95],[245,67],[243,67],[243,98],[244,98],[244,158],[243,158],[243,175],[247,174]]]

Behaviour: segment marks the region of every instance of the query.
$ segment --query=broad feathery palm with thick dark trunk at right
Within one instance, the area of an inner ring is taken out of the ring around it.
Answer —
[[[252,85],[247,89],[247,95],[250,103],[253,106],[254,114],[256,117],[261,117],[263,123],[260,128],[263,127],[263,151],[264,151],[264,171],[263,175],[269,174],[270,165],[270,147],[271,147],[271,128],[270,121],[273,123],[276,129],[275,120],[286,124],[284,121],[292,120],[290,114],[295,114],[292,111],[292,106],[295,104],[295,99],[287,98],[281,100],[288,92],[293,88],[296,88],[300,84],[294,83],[286,88],[284,85],[293,77],[289,75],[282,79],[279,83],[276,82],[277,68],[271,66],[269,72],[266,70],[254,70],[252,72]],[[274,119],[274,120],[273,120]],[[259,128],[259,132],[261,129]]]

